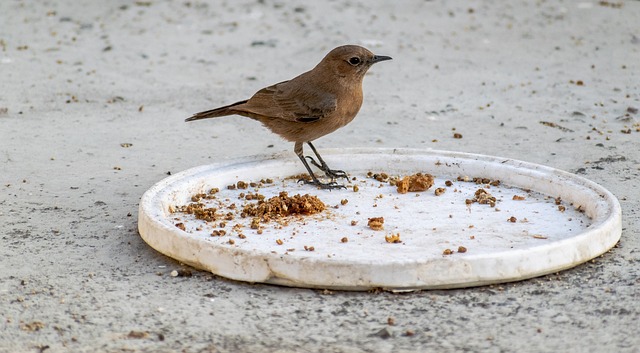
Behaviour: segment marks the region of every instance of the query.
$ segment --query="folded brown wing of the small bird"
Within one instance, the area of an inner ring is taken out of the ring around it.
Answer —
[[[308,85],[284,81],[261,89],[241,107],[249,113],[297,122],[312,122],[337,108],[334,95],[317,92]]]

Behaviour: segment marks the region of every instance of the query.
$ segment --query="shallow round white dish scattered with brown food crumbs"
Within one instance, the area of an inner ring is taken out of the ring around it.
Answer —
[[[444,151],[321,153],[349,173],[340,180],[345,189],[299,183],[292,176],[304,168],[293,154],[228,160],[149,189],[140,234],[167,256],[234,280],[393,291],[536,277],[588,261],[620,239],[618,200],[557,169]],[[416,173],[433,175],[434,185],[399,193],[395,181]],[[313,195],[326,209],[268,222],[246,216],[258,199],[283,191]],[[208,213],[196,217],[194,206]]]

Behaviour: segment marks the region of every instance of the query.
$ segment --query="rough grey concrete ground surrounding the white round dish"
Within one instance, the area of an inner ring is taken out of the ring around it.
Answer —
[[[640,351],[638,18],[638,1],[0,2],[0,352]],[[142,193],[292,150],[249,119],[183,119],[346,43],[394,60],[316,146],[575,172],[619,198],[619,245],[550,276],[401,295],[171,277],[189,269],[140,239]]]

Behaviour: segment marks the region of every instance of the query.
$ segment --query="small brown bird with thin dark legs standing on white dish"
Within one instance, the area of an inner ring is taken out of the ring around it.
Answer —
[[[294,152],[311,176],[304,180],[323,189],[343,188],[336,178],[348,180],[347,173],[330,169],[311,141],[336,131],[355,118],[362,106],[362,79],[371,65],[391,60],[374,55],[357,45],[337,47],[312,70],[289,81],[263,88],[248,100],[194,114],[186,121],[241,115],[258,120],[274,133],[295,142]],[[318,158],[305,157],[306,143]],[[322,170],[331,182],[322,183],[307,163]]]

